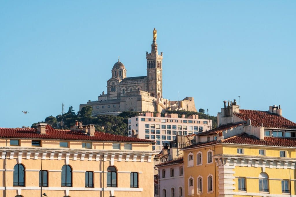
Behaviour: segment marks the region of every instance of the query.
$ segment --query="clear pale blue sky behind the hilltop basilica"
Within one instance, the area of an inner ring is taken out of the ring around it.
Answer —
[[[281,105],[296,122],[296,1],[1,1],[0,127],[95,101],[120,61],[146,75],[157,29],[163,97],[217,115]],[[28,111],[23,114],[22,110]]]

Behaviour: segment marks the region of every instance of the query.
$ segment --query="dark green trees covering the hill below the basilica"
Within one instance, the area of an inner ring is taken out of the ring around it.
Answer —
[[[118,116],[114,115],[96,115],[92,116],[92,107],[85,106],[79,111],[75,113],[73,107],[70,106],[67,113],[63,115],[48,116],[44,121],[40,121],[37,123],[47,123],[53,128],[56,129],[70,129],[71,126],[75,125],[75,121],[83,122],[83,125],[94,124],[96,131],[101,131],[105,133],[111,133],[121,136],[128,136],[128,118],[135,117],[139,115],[139,113],[143,112],[134,112],[134,111],[124,111],[120,113]],[[178,117],[181,118],[182,114],[185,114],[187,118],[190,115],[197,114],[200,119],[210,119],[213,122],[213,127],[217,127],[217,116],[208,116],[203,110],[200,109],[200,112],[191,112],[191,111],[169,111],[166,110],[165,113],[177,113]],[[154,112],[154,116],[156,116],[156,112]],[[164,113],[161,113],[161,117],[164,117]],[[36,128],[36,124],[32,124],[32,128]]]

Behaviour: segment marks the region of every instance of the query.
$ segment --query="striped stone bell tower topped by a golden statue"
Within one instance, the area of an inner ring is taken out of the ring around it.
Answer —
[[[163,75],[162,61],[163,52],[158,55],[157,51],[157,30],[153,30],[153,41],[151,45],[151,53],[146,51],[147,59],[147,92],[150,92],[152,97],[163,97]]]

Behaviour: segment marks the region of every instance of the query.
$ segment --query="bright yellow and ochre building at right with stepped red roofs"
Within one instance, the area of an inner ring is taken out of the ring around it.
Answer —
[[[295,196],[295,133],[296,123],[275,105],[225,105],[218,127],[183,148],[185,196]]]

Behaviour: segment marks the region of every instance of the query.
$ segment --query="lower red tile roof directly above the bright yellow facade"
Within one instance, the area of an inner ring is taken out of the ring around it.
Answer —
[[[209,141],[209,142],[192,144],[191,146],[186,146],[183,149],[196,148],[200,146],[207,146],[207,145],[213,145],[218,143],[296,147],[296,138],[264,137],[264,140],[260,140],[257,137],[249,135],[247,133],[241,133],[239,135],[232,136],[227,139],[223,139],[221,141]]]

